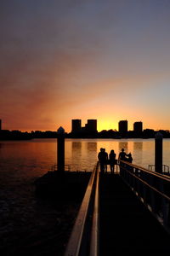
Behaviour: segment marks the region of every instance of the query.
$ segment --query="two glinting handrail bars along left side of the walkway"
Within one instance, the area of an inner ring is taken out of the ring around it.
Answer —
[[[88,187],[86,189],[84,198],[82,200],[82,205],[80,207],[80,210],[77,215],[76,222],[74,224],[73,230],[71,232],[71,237],[68,241],[66,250],[65,250],[65,256],[78,256],[81,252],[81,247],[83,243],[83,234],[86,229],[87,224],[87,218],[88,218],[88,212],[91,205],[91,202],[93,201],[93,191],[95,195],[94,199],[94,214],[93,214],[93,228],[92,228],[92,237],[93,240],[91,241],[90,245],[90,251],[92,250],[92,247],[95,247],[94,251],[98,251],[98,246],[96,246],[96,243],[98,244],[98,234],[96,232],[97,226],[98,226],[98,218],[99,218],[99,192],[98,192],[98,186],[99,186],[99,168],[98,163],[96,166],[94,166],[94,171],[91,174],[91,177],[88,182]],[[94,188],[95,183],[95,188]],[[81,254],[82,255],[82,254]],[[92,254],[91,254],[92,255]],[[97,254],[93,254],[94,256]]]

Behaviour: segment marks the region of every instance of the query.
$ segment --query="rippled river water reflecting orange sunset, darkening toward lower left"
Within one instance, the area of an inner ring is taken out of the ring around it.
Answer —
[[[30,242],[33,244],[35,240],[39,241],[43,232],[51,236],[49,230],[56,227],[56,216],[61,219],[67,212],[65,209],[61,212],[48,201],[37,200],[34,194],[34,180],[57,163],[56,143],[56,139],[0,142],[0,239],[11,250],[19,240],[24,239],[23,244],[31,247]],[[153,139],[66,139],[65,165],[70,165],[71,171],[92,171],[99,148],[105,148],[108,153],[114,149],[116,158],[121,149],[125,148],[127,153],[133,154],[134,164],[145,168],[154,164]],[[170,139],[164,139],[163,164],[168,166],[169,156]],[[68,218],[71,217],[65,216],[65,219]],[[11,254],[14,251],[4,255]]]

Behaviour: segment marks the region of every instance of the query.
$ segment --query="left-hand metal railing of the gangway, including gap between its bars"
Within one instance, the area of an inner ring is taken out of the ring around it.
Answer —
[[[99,255],[99,164],[94,166],[65,256]]]

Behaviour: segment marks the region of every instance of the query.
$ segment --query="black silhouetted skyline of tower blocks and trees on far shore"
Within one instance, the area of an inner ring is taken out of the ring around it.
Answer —
[[[65,131],[63,127],[58,127],[56,131],[20,131],[20,130],[3,130],[2,120],[0,119],[0,140],[30,140],[33,138],[57,138],[58,131],[65,131],[65,138],[155,138],[157,132],[161,132],[162,137],[170,138],[170,131],[147,128],[143,129],[143,122],[136,121],[133,123],[133,130],[128,129],[128,121],[120,120],[118,122],[118,131],[116,129],[97,130],[97,119],[88,119],[87,123],[82,126],[82,119],[71,119],[71,132]]]

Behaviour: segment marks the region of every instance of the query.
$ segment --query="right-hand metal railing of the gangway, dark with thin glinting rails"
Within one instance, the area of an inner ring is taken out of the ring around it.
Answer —
[[[170,233],[170,177],[120,161],[120,175]]]

